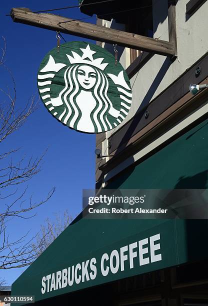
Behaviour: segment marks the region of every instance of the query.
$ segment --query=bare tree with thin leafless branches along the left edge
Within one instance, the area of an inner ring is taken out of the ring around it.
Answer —
[[[11,88],[0,88],[4,100],[0,101],[0,143],[24,124],[27,118],[37,108],[35,96],[31,96],[26,105],[20,108],[16,102],[15,82],[10,69],[5,65],[6,42],[4,37],[1,48],[0,68],[10,76]],[[34,201],[28,195],[25,183],[32,179],[41,170],[41,164],[46,151],[39,157],[23,156],[18,161],[15,153],[18,149],[10,149],[0,153],[0,269],[10,269],[29,265],[45,245],[46,236],[51,231],[47,227],[44,235],[38,232],[30,237],[27,230],[16,240],[11,240],[8,229],[14,218],[28,219],[36,215],[36,208],[44,204],[55,191],[53,187],[45,198]],[[37,243],[38,239],[38,243]],[[3,283],[3,280],[0,279]],[[0,284],[1,284],[0,282]]]

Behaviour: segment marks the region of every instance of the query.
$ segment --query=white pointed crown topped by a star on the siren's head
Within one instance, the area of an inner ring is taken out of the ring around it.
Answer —
[[[66,54],[71,64],[73,63],[90,64],[92,66],[99,68],[100,70],[104,70],[104,68],[108,65],[108,63],[102,63],[102,60],[104,59],[103,57],[93,59],[92,55],[96,53],[96,51],[92,51],[88,44],[85,49],[80,48],[80,50],[83,52],[82,56],[80,56],[78,53],[74,51],[71,51],[73,56]]]

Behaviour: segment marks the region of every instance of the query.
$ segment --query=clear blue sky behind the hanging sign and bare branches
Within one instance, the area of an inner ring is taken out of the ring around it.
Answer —
[[[7,44],[5,64],[11,69],[16,83],[17,106],[24,107],[32,94],[37,94],[36,74],[44,55],[56,45],[55,32],[20,23],[14,23],[10,16],[11,7],[28,7],[32,11],[77,5],[77,0],[7,0],[1,3],[0,36]],[[79,8],[54,12],[67,17],[83,18]],[[94,23],[95,18],[86,19]],[[84,40],[72,35],[63,34],[66,41]],[[64,43],[61,40],[61,43]],[[2,41],[1,41],[2,45]],[[5,71],[0,71],[1,87],[11,86]],[[2,96],[0,96],[2,98]],[[74,218],[82,207],[82,189],[94,188],[95,135],[85,134],[63,126],[53,118],[40,101],[40,106],[25,122],[21,129],[10,135],[1,144],[0,153],[7,149],[20,147],[15,158],[22,155],[39,156],[47,147],[42,170],[29,181],[28,193],[38,201],[47,194],[52,186],[56,191],[52,198],[35,212],[34,218],[27,220],[12,219],[8,223],[10,239],[15,239],[30,230],[30,235],[38,231],[46,217],[54,218],[54,213],[68,212]],[[2,167],[2,164],[1,166]],[[22,273],[23,269],[0,270],[7,285]]]

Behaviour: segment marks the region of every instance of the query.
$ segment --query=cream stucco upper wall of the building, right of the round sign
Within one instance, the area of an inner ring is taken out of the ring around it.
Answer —
[[[126,119],[114,130],[117,130],[126,123],[139,109],[139,106],[148,104],[208,51],[208,1],[186,20],[185,10],[187,2],[188,0],[178,0],[176,4],[178,57],[171,62],[166,56],[154,54],[138,73],[131,78],[131,109]],[[167,1],[153,0],[152,12],[154,38],[159,37],[159,39],[168,40]],[[103,20],[103,24],[110,26],[109,21]],[[120,26],[119,24],[119,29]],[[113,28],[115,28],[115,24],[113,24]],[[120,62],[125,68],[129,63],[129,51],[127,48],[122,50]],[[106,132],[106,136],[109,137],[113,131]]]

